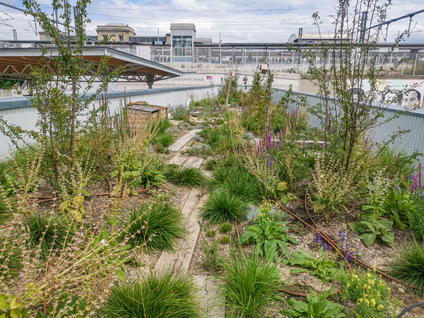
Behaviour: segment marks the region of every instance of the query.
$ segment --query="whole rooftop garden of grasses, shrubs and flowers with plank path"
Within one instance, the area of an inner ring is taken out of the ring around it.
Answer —
[[[111,114],[106,95],[82,98],[79,71],[89,86],[100,74],[81,59],[80,12],[79,50],[59,42],[51,64],[41,48],[37,129],[0,117],[14,145],[0,162],[0,317],[386,318],[422,300],[422,154],[396,148],[404,130],[372,138],[402,116],[367,106],[380,65],[348,45],[354,70],[310,59],[315,105],[273,100],[262,65],[249,88],[235,70],[217,97],[170,105],[173,119],[131,117],[125,96]],[[368,95],[347,92],[365,76]]]

